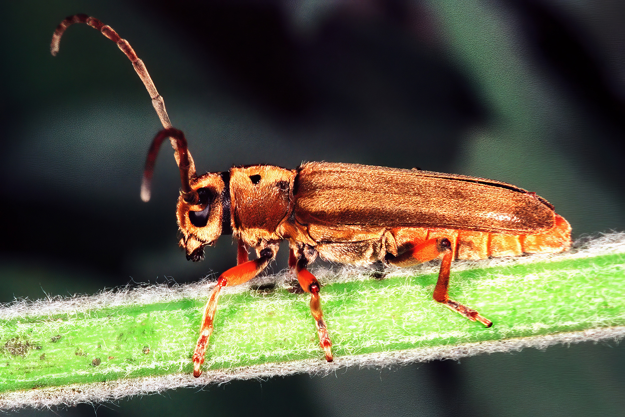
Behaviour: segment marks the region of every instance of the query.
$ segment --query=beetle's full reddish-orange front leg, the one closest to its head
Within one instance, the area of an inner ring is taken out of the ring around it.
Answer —
[[[267,266],[271,258],[271,255],[265,255],[251,261],[243,262],[222,273],[217,280],[217,285],[212,289],[211,295],[206,305],[204,305],[204,315],[202,315],[201,322],[202,326],[199,331],[199,338],[197,338],[195,351],[193,352],[193,376],[196,378],[202,375],[200,366],[204,363],[204,354],[206,353],[208,340],[211,337],[212,321],[217,312],[217,299],[219,298],[221,287],[239,285],[251,280]]]

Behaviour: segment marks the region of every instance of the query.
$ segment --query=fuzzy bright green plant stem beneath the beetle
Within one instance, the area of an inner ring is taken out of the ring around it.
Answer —
[[[332,369],[342,358],[624,326],[622,252],[621,244],[620,252],[452,265],[451,298],[476,308],[494,322],[491,328],[432,300],[436,267],[424,275],[396,270],[384,280],[346,270],[332,282],[317,272],[333,365],[323,360],[308,295],[282,284],[233,288],[219,300],[204,369],[278,369],[297,361]],[[188,375],[206,297],[206,286],[196,284],[5,307],[0,392]]]

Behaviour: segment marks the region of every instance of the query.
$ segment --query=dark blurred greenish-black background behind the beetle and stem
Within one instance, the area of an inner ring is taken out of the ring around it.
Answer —
[[[0,302],[183,283],[236,262],[229,237],[178,248],[179,176],[118,48],[148,67],[199,171],[327,160],[454,172],[549,200],[574,237],[625,229],[625,3],[22,1],[0,3]],[[274,271],[286,267],[284,247]],[[16,415],[622,415],[625,349],[526,350],[175,390]]]

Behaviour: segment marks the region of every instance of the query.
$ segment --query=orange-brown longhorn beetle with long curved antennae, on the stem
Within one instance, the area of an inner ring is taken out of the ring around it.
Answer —
[[[86,14],[69,16],[54,32],[52,54],[74,23],[86,23],[116,42],[148,89],[164,129],[148,152],[141,198],[150,199],[154,162],[163,141],[170,139],[182,183],[176,214],[187,260],[202,260],[204,247],[222,234],[237,240],[237,266],[221,274],[204,306],[193,353],[196,377],[202,373],[221,288],[256,277],[276,258],[281,240],[289,242],[289,267],[311,294],[311,313],[328,362],[332,342],[321,312],[321,286],[307,270],[317,256],[398,267],[442,257],[434,300],[490,327],[490,320],[447,295],[451,261],[555,253],[571,245],[571,226],[547,200],[505,182],[330,162],[307,162],[296,169],[249,165],[197,175],[184,134],[169,122],[143,61],[111,27]],[[249,260],[247,248],[256,250],[256,259]]]

